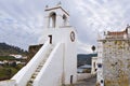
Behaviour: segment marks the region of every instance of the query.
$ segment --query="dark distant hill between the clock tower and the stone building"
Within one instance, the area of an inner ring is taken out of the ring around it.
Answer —
[[[78,54],[77,55],[78,66],[91,64],[91,58],[96,56],[98,54]]]

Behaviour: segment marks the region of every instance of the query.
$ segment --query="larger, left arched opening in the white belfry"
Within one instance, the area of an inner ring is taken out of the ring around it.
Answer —
[[[50,14],[49,27],[50,28],[55,28],[55,26],[56,26],[56,14],[54,12],[52,12]]]

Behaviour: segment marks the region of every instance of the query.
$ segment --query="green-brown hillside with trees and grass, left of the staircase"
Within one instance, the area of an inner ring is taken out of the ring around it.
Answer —
[[[17,46],[0,43],[0,61],[6,60],[5,63],[0,64],[0,81],[11,78],[18,70],[24,67],[24,64],[16,64],[16,60],[26,60],[10,56],[11,54],[27,56],[27,52]]]

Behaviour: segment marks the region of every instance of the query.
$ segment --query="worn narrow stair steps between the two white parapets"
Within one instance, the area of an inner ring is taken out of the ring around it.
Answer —
[[[44,66],[46,61],[48,60],[51,52],[53,51],[53,46],[49,49],[49,52],[46,54],[46,58],[39,63],[39,66],[37,67],[35,73],[31,75],[30,80],[27,82],[26,86],[34,86],[32,83],[35,81],[35,78],[37,77],[37,75],[39,74],[40,70],[42,69],[42,67]]]

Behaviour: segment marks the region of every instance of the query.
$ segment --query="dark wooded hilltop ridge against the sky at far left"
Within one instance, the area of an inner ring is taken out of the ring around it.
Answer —
[[[0,43],[0,56],[8,56],[10,54],[26,55],[27,52],[17,46]]]

